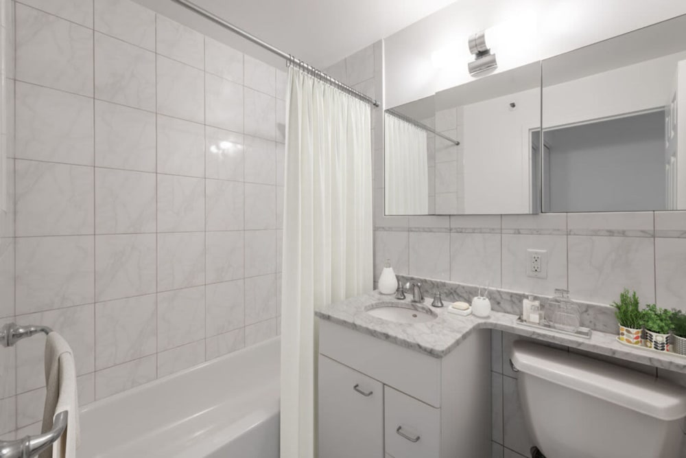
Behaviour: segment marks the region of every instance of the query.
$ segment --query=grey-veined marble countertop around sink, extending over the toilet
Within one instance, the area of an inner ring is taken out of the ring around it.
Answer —
[[[366,312],[381,301],[402,302],[406,307],[429,309],[436,312],[438,317],[427,323],[395,323],[373,317]],[[392,295],[381,295],[378,291],[373,291],[330,304],[315,313],[320,319],[434,356],[434,358],[442,358],[449,354],[474,330],[495,329],[613,358],[631,360],[659,369],[686,373],[686,357],[632,348],[617,341],[616,334],[594,330],[591,339],[584,339],[560,334],[554,330],[539,330],[519,325],[516,323],[517,316],[514,314],[492,311],[488,318],[477,318],[474,315],[462,317],[448,312],[447,305],[444,308],[433,308],[430,304],[429,299],[426,299],[424,304],[412,304],[409,298],[398,301]]]

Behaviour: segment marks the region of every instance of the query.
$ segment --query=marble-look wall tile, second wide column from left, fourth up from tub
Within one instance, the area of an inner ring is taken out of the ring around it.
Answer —
[[[156,231],[156,176],[95,169],[95,233]]]

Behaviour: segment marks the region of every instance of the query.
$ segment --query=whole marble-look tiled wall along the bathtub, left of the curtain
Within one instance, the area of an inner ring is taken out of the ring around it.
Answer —
[[[0,324],[64,334],[82,404],[278,333],[284,98],[281,69],[132,1],[16,2]],[[33,432],[43,337],[0,354],[0,435]]]

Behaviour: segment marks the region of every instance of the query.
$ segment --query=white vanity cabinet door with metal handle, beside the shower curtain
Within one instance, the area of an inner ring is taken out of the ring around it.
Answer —
[[[383,457],[383,385],[319,356],[319,457]]]

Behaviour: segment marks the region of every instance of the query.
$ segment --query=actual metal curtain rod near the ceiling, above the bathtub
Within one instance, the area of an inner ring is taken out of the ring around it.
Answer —
[[[269,43],[265,43],[264,41],[261,41],[259,38],[257,38],[257,36],[252,35],[252,34],[246,32],[245,30],[243,30],[239,27],[236,27],[232,23],[228,23],[228,22],[224,21],[224,19],[220,18],[219,16],[217,16],[213,12],[209,12],[208,10],[205,10],[201,6],[196,5],[196,3],[193,3],[192,1],[189,1],[189,0],[171,0],[171,1],[173,1],[174,3],[178,3],[179,5],[183,6],[184,8],[187,8],[188,10],[191,10],[193,12],[196,12],[197,14],[200,14],[200,16],[203,16],[205,19],[209,19],[213,23],[220,25],[220,26],[224,27],[225,29],[230,30],[231,32],[233,32],[239,36],[242,36],[246,40],[248,40],[252,43],[255,43],[255,45],[258,45],[258,46],[263,47],[264,49],[267,49],[271,53],[276,54],[276,56],[280,56],[280,57],[284,58],[285,60],[287,60],[289,62],[289,65],[295,65],[296,67],[300,67],[301,69],[307,71],[307,73],[309,73],[310,75],[331,84],[331,86],[333,86],[337,89],[340,89],[340,90],[344,91],[345,93],[348,93],[348,94],[352,95],[353,97],[358,98],[359,100],[367,102],[368,104],[373,105],[373,106],[379,106],[379,102],[377,102],[376,100],[368,97],[367,95],[364,95],[363,93],[361,93],[359,91],[356,91],[355,89],[351,88],[347,84],[343,84],[342,82],[336,80],[335,78],[331,78],[331,76],[327,75],[327,73],[324,73],[323,71],[320,71],[320,70],[312,67],[311,65],[308,65],[307,63],[303,62],[302,60],[294,58],[294,56],[291,56],[290,54],[287,54],[284,51],[281,51],[281,49],[276,48],[276,47],[270,45]]]

